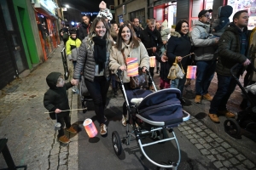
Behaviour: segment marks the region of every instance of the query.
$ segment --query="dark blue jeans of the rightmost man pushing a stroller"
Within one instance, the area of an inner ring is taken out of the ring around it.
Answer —
[[[236,88],[236,80],[233,77],[218,76],[218,89],[214,95],[209,112],[217,114],[218,111],[225,111],[230,95]],[[236,75],[239,78],[239,75]]]

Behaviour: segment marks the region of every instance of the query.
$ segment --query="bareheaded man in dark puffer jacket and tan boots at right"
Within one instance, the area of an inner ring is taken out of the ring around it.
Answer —
[[[236,77],[239,77],[243,66],[250,64],[248,59],[248,13],[247,10],[236,12],[233,22],[224,31],[218,41],[218,64],[216,72],[218,76],[218,89],[214,95],[209,117],[212,122],[219,122],[218,115],[235,117],[235,114],[226,108],[230,95],[236,88],[236,80],[231,77],[230,69],[240,64],[234,69]]]

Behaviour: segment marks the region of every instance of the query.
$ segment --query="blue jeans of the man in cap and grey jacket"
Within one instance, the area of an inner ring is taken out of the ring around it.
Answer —
[[[208,88],[214,76],[216,60],[196,61],[195,95],[208,93]]]

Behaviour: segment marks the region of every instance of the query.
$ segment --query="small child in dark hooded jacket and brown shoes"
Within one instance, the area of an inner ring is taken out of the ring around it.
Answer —
[[[66,124],[67,132],[77,133],[77,131],[71,126],[68,105],[67,89],[72,88],[71,82],[65,83],[63,76],[60,72],[51,72],[46,77],[46,82],[49,89],[44,94],[44,107],[52,113],[49,116],[52,119],[57,119],[57,122],[61,123],[61,129],[58,131],[58,140],[63,143],[69,143],[69,139],[64,135],[64,127]]]

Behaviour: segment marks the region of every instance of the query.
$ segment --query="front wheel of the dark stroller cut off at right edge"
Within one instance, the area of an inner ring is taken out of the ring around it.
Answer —
[[[224,130],[231,137],[241,139],[241,127],[236,120],[227,119],[224,121]]]

